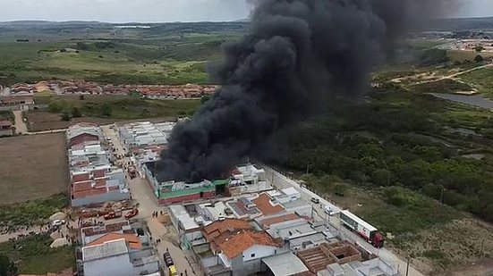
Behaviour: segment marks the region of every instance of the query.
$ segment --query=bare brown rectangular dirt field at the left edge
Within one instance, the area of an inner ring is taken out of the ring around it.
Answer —
[[[64,133],[0,138],[2,204],[67,190]]]

